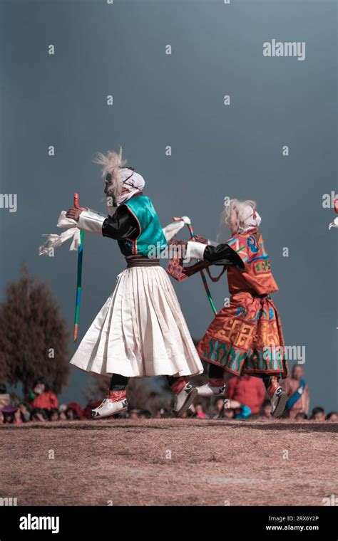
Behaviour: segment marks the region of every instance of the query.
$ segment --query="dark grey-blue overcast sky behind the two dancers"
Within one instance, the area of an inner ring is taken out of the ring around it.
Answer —
[[[122,144],[163,225],[188,215],[197,233],[215,238],[225,196],[257,201],[286,343],[306,347],[311,406],[337,408],[338,231],[328,231],[334,213],[322,206],[323,194],[337,191],[337,4],[0,5],[0,190],[18,197],[16,213],[0,209],[1,295],[26,261],[53,290],[71,328],[76,254],[63,247],[55,258],[39,258],[41,233],[56,232],[74,191],[81,204],[105,210],[92,159]],[[274,38],[305,42],[305,60],[264,57],[263,43]],[[48,157],[49,145],[55,157]],[[86,236],[80,338],[124,266],[113,241]],[[192,335],[201,336],[212,312],[199,276],[174,285]],[[226,280],[210,288],[220,308]],[[90,376],[71,373],[61,399],[82,401]]]

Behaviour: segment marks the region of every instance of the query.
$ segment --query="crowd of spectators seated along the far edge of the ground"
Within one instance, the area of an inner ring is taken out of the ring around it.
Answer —
[[[322,407],[314,407],[309,414],[309,389],[304,382],[304,373],[300,365],[292,369],[291,377],[283,382],[290,406],[285,416],[295,421],[305,419],[314,421],[337,421],[338,414],[331,411],[325,414]],[[297,400],[295,398],[297,397]],[[76,402],[58,404],[58,398],[48,387],[46,379],[39,378],[34,384],[33,392],[25,397],[24,401],[13,403],[7,393],[6,385],[0,383],[0,424],[24,424],[48,421],[76,421],[91,419],[91,409],[100,402],[88,403],[83,409]],[[120,414],[119,418],[148,419],[150,417],[170,417],[167,409],[158,409],[155,414],[149,411],[130,409]],[[267,399],[262,379],[242,375],[233,377],[227,382],[225,399],[200,399],[190,406],[184,414],[185,418],[192,419],[258,419],[269,421],[271,404]]]

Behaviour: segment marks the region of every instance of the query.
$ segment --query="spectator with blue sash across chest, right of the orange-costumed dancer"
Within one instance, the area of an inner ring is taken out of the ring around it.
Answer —
[[[304,380],[304,370],[300,364],[292,368],[291,377],[281,383],[287,394],[285,409],[289,411],[290,419],[295,419],[298,413],[307,414],[309,411],[309,388]]]

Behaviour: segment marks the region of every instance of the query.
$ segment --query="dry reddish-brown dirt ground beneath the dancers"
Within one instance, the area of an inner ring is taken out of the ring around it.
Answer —
[[[17,505],[323,505],[337,424],[118,419],[0,427]]]

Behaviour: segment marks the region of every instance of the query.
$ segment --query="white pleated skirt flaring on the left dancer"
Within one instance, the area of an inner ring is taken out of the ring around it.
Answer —
[[[159,266],[127,268],[71,359],[111,376],[191,376],[203,372],[173,285]]]

